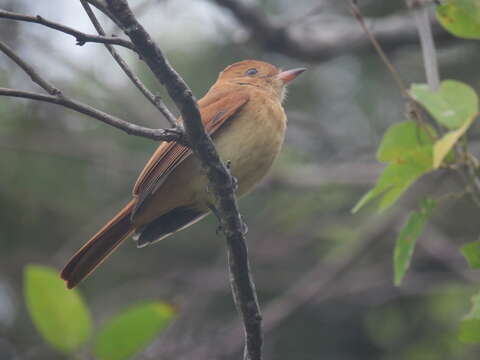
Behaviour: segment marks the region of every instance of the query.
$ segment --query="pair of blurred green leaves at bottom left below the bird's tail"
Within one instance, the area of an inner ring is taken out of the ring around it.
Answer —
[[[96,359],[129,359],[150,344],[175,317],[161,301],[136,304],[114,315],[94,331],[92,315],[77,289],[67,290],[56,269],[28,265],[24,294],[32,321],[46,343],[73,355],[82,348]]]

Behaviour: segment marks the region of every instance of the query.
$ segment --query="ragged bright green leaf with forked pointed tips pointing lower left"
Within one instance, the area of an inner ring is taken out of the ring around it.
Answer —
[[[398,163],[390,163],[382,172],[375,187],[366,193],[352,209],[357,212],[371,200],[380,197],[378,211],[392,206],[415,180],[432,169],[432,146],[425,145],[410,152]]]

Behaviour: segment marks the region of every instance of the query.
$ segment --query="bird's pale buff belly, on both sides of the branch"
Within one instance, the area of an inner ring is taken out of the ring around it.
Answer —
[[[269,118],[265,118],[265,113]],[[213,140],[220,158],[229,163],[238,181],[237,195],[251,190],[268,173],[280,152],[286,127],[283,110],[267,109],[258,117],[238,116],[219,129]],[[135,216],[137,226],[147,224],[177,207],[209,211],[214,203],[208,179],[198,159],[184,160],[151,197],[143,211]]]

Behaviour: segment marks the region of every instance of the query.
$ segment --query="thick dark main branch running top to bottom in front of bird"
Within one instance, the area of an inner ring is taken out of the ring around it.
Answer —
[[[195,97],[187,84],[170,66],[160,48],[137,21],[125,0],[107,0],[108,10],[122,25],[124,32],[142,54],[157,79],[165,85],[170,97],[178,106],[185,124],[188,142],[206,170],[211,189],[216,198],[215,208],[221,219],[227,240],[230,283],[235,303],[240,310],[245,330],[244,358],[260,360],[262,350],[261,315],[250,275],[245,224],[238,211],[234,183],[222,163],[210,137],[205,133]]]

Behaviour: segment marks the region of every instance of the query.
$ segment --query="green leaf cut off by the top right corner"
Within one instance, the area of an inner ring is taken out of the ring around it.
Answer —
[[[437,7],[437,19],[455,36],[480,39],[480,0],[447,0]]]

